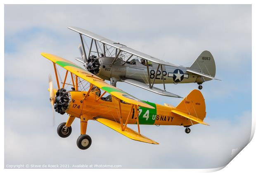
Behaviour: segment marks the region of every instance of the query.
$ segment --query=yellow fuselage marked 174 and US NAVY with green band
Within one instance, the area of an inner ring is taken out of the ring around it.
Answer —
[[[98,96],[91,92],[89,96],[85,99],[86,91],[69,91],[69,107],[66,110],[66,113],[80,118],[81,115],[86,115],[88,119],[95,117],[101,117],[105,119],[110,119],[115,122],[119,122],[119,106],[118,100],[112,98],[111,101],[104,101],[97,98]],[[171,110],[176,109],[174,107],[158,105],[155,103],[146,102],[149,105],[152,105],[155,109],[139,107],[138,117],[139,124],[156,124],[156,125],[177,125],[177,126],[190,126],[192,125],[189,119],[181,117],[171,112]],[[121,117],[123,122],[126,121],[132,105],[128,103],[121,102]],[[137,119],[135,115],[135,109],[133,109],[133,114],[128,119],[128,124],[136,124]],[[197,124],[197,123],[193,123]]]

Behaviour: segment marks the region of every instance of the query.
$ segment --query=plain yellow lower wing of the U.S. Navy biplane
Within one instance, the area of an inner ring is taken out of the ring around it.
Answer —
[[[113,122],[109,119],[104,119],[104,118],[95,118],[95,120],[97,122],[104,124],[105,126],[108,126],[111,129],[121,133],[122,135],[124,135],[130,139],[137,140],[137,141],[144,142],[144,143],[159,144],[159,143],[155,142],[154,140],[151,140],[151,139],[147,138],[146,136],[143,136],[128,127],[126,127],[126,129],[124,131],[122,131],[120,124],[117,122]]]

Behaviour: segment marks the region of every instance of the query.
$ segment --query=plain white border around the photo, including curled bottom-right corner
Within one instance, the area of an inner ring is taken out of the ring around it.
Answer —
[[[21,3],[22,2],[22,3]],[[83,4],[85,1],[84,0],[72,0],[72,1],[69,1],[69,0],[62,0],[62,1],[55,1],[55,0],[40,0],[40,1],[36,1],[37,3],[35,3],[34,0],[23,0],[23,1],[19,1],[19,0],[3,0],[3,4],[2,4],[2,10],[1,10],[1,14],[2,14],[2,17],[1,17],[1,23],[2,25],[4,25],[4,4],[57,4],[58,2],[62,3],[62,4]],[[87,2],[87,1],[86,1]],[[94,0],[94,1],[88,1],[87,4],[143,4],[147,2],[148,4],[192,4],[192,2],[190,0],[157,0],[157,1],[153,1],[153,0],[148,0],[148,1],[142,1],[142,0],[123,0],[123,1],[120,1],[120,0],[109,0],[109,1],[104,1],[104,0]],[[157,2],[157,3],[156,3]],[[208,1],[205,1],[205,0],[194,0],[193,1],[193,4],[252,4],[252,19],[255,19],[255,11],[256,11],[256,8],[254,7],[255,3],[253,3],[254,1],[252,0],[208,0]],[[254,48],[254,45],[255,45],[255,34],[254,34],[254,30],[255,30],[255,22],[254,20],[252,20],[252,47]],[[1,35],[2,37],[1,38],[4,38],[4,27],[2,26],[2,32],[1,32]],[[2,63],[0,63],[1,65],[1,81],[2,81],[2,84],[4,83],[4,39],[2,39],[2,42],[1,42],[1,52],[2,52]],[[255,57],[255,50],[252,49],[252,57]],[[252,76],[256,76],[255,74],[255,59],[252,58]],[[255,79],[252,79],[252,89],[255,89]],[[0,91],[4,91],[4,86],[3,85],[0,85]],[[3,95],[3,94],[2,94]],[[252,90],[252,98],[254,98],[255,96],[255,91]],[[3,115],[4,115],[4,97],[2,97],[1,99],[1,112],[2,112],[2,134],[3,131],[4,131],[4,121],[3,121]],[[255,101],[252,100],[252,133],[251,133],[251,139],[252,137],[254,136],[254,131],[255,131],[255,110],[254,110],[254,105],[255,105]],[[3,138],[3,136],[2,136]],[[2,169],[4,169],[4,143],[1,143],[1,147],[2,147],[2,150],[1,150],[1,166],[2,166]],[[254,156],[256,154],[256,149],[255,149],[255,146],[256,146],[256,141],[255,139],[252,139],[251,142],[249,143],[249,145],[247,145],[244,150],[242,150],[239,155],[237,157],[235,157],[229,164],[228,166],[226,166],[226,168],[222,169],[221,172],[254,172],[255,171],[255,168],[254,168]],[[185,169],[185,170],[182,170],[182,169],[172,169],[171,171],[174,171],[174,172],[212,172],[212,171],[218,171],[220,170],[221,168],[215,168],[215,169]],[[4,172],[13,172],[13,171],[18,171],[17,169],[4,169],[2,170]],[[26,169],[19,169],[19,171],[21,172],[34,172],[35,170],[26,170]],[[36,170],[36,171],[39,171],[39,172],[45,172],[46,170],[44,169],[41,169],[41,170]],[[61,169],[61,170],[55,170],[55,171],[62,171],[62,172],[69,172],[69,171],[73,171],[73,170],[69,170],[69,169]],[[97,169],[95,170],[84,170],[84,169],[76,169],[76,171],[90,171],[90,172],[95,172],[95,171],[99,171]],[[117,172],[117,171],[125,171],[125,172],[130,172],[132,170],[130,169],[126,169],[126,170],[119,170],[119,169],[116,169],[116,170],[104,170],[104,172]],[[169,172],[170,170],[166,170],[166,169],[160,169],[160,170],[155,170],[155,169],[151,169],[151,170],[145,170],[145,171],[148,171],[148,172],[152,172],[152,171],[163,171],[163,172]]]

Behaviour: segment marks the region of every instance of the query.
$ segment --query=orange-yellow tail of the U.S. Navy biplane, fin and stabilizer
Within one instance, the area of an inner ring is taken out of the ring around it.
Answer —
[[[190,92],[172,112],[192,119],[194,122],[208,125],[203,122],[206,117],[204,96],[197,89]],[[196,123],[194,123],[196,124]]]

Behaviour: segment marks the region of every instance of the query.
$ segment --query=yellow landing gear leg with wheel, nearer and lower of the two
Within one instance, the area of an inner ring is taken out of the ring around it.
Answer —
[[[80,117],[80,125],[81,125],[81,135],[76,140],[76,145],[81,150],[88,149],[92,144],[92,139],[89,135],[86,135],[86,129],[87,129],[87,121],[86,117],[84,115],[81,115]]]

